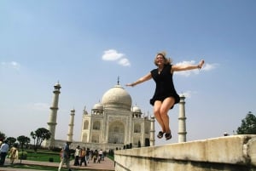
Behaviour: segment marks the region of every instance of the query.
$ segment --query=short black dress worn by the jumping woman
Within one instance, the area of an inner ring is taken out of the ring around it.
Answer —
[[[180,98],[173,85],[171,69],[172,65],[165,65],[160,73],[158,73],[158,69],[150,71],[155,82],[154,96],[150,100],[151,105],[154,105],[155,100],[163,101],[167,97],[173,97],[175,104],[179,102]]]

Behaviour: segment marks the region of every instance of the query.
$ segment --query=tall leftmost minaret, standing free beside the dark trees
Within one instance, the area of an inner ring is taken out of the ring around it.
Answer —
[[[56,83],[54,86],[55,90],[53,91],[54,96],[52,100],[52,105],[49,107],[50,113],[49,113],[49,122],[48,124],[48,130],[50,132],[50,139],[47,140],[46,145],[48,147],[53,147],[55,146],[55,127],[56,127],[56,120],[57,120],[57,111],[59,109],[58,103],[59,103],[59,94],[61,94],[61,84]]]

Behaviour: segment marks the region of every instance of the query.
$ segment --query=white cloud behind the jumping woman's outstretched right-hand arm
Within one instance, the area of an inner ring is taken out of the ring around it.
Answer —
[[[183,61],[183,62],[179,62],[176,64],[177,66],[186,66],[186,65],[197,65],[197,63],[195,63],[195,60],[191,60],[191,61]],[[216,68],[216,66],[218,66],[218,64],[204,64],[204,66],[201,68],[201,71],[210,71]],[[185,77],[189,77],[191,74],[199,74],[200,70],[189,70],[189,71],[176,71],[175,74],[180,75],[180,76],[185,76]]]

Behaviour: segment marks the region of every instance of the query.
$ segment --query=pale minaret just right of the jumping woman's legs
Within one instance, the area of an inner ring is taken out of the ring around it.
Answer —
[[[186,116],[185,116],[185,96],[180,96],[178,114],[178,142],[186,142]]]

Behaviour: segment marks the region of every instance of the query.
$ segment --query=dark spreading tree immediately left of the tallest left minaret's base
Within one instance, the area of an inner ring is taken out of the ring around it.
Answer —
[[[38,147],[42,145],[44,140],[49,140],[51,134],[46,128],[38,128],[35,132],[31,132],[30,135],[32,139],[36,140],[36,143],[34,143],[34,151],[38,151]]]

